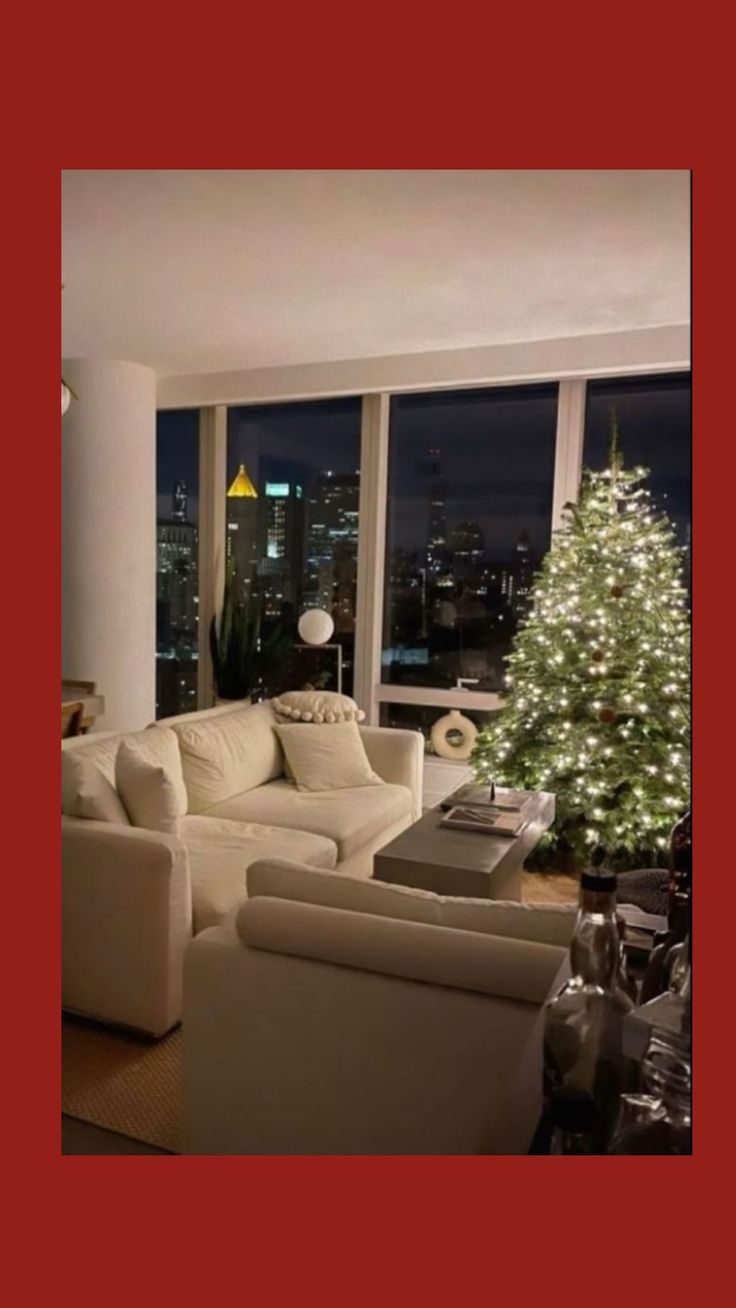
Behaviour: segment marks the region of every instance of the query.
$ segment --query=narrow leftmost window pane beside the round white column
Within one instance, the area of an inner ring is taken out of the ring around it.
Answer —
[[[156,715],[197,706],[199,409],[156,425]]]

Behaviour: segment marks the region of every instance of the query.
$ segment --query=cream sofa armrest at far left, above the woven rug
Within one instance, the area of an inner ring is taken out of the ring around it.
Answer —
[[[191,938],[183,842],[63,818],[61,938],[65,1008],[162,1036],[182,1016]]]

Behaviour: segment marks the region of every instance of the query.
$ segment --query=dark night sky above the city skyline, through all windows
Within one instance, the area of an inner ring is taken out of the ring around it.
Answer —
[[[608,411],[616,404],[626,464],[654,470],[650,487],[677,519],[690,513],[690,382],[688,377],[591,382],[584,462],[608,462]],[[447,526],[480,523],[492,557],[507,559],[522,530],[541,556],[549,547],[557,386],[494,387],[395,396],[391,405],[390,548],[425,551],[429,450],[441,451]],[[328,468],[356,472],[361,400],[248,405],[227,415],[227,479],[244,463],[256,487],[299,481],[305,493]],[[158,514],[170,513],[174,483],[190,487],[196,521],[199,415],[158,415]],[[663,496],[667,494],[667,500]]]

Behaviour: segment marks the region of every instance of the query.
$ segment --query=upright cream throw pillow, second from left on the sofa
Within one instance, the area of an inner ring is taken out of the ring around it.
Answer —
[[[115,757],[115,783],[133,827],[178,836],[179,819],[184,816],[187,804],[186,798],[182,800],[179,747],[173,732],[169,734],[173,736],[175,757],[161,757],[170,751],[159,748],[157,761],[139,748],[137,742],[120,740]]]

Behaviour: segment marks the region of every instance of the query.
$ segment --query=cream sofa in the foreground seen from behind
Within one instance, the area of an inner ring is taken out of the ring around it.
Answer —
[[[575,908],[278,859],[184,965],[184,1152],[526,1154]]]

